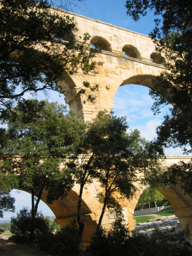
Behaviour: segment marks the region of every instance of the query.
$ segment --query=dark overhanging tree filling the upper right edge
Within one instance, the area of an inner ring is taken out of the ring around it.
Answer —
[[[192,144],[192,5],[191,1],[126,1],[127,14],[137,21],[151,10],[155,28],[150,36],[156,43],[156,50],[166,58],[166,67],[154,81],[150,94],[155,99],[153,110],[159,112],[162,104],[173,104],[170,114],[157,127],[157,143],[164,147]],[[189,150],[191,152],[191,150]]]

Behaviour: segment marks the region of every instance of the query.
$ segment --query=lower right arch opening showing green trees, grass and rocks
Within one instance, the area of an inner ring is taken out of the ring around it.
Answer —
[[[172,205],[158,189],[147,185],[138,198],[133,219],[136,226],[134,232],[150,234],[155,228],[180,230],[179,220],[175,216]]]

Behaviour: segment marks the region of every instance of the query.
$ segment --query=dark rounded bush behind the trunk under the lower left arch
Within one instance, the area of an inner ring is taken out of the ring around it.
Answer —
[[[31,218],[31,210],[28,207],[23,207],[16,217],[11,217],[10,232],[14,234],[12,238],[16,242],[29,241]],[[38,241],[40,234],[49,232],[49,220],[42,212],[37,212],[35,226],[35,241]]]

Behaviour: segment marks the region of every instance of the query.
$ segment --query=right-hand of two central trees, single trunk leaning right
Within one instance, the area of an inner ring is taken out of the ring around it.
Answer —
[[[134,183],[145,183],[145,178],[141,178],[139,174],[145,175],[149,171],[147,169],[153,170],[159,165],[157,154],[150,154],[150,143],[141,137],[138,130],[124,133],[123,129],[119,132],[121,127],[114,127],[113,124],[111,126],[105,150],[97,161],[96,177],[103,188],[103,192],[98,195],[103,208],[97,231],[100,229],[106,207],[116,207],[114,193],[132,198],[136,191]]]

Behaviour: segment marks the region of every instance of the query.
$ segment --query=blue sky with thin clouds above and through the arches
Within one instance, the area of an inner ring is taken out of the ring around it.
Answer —
[[[77,1],[73,1],[78,3]],[[146,17],[142,17],[140,21],[134,22],[126,15],[125,0],[85,0],[78,3],[78,7],[72,5],[74,13],[98,19],[102,22],[110,23],[118,27],[123,27],[141,34],[148,35],[154,27],[152,13],[148,13]],[[86,32],[86,31],[85,31]],[[147,140],[152,140],[155,137],[155,127],[161,123],[163,115],[167,109],[163,109],[162,113],[154,116],[150,110],[153,104],[153,99],[148,95],[149,89],[139,85],[125,85],[118,89],[114,96],[114,112],[119,116],[127,116],[127,121],[132,129],[140,130],[141,135]],[[39,98],[43,98],[43,94],[39,94]],[[127,98],[129,97],[129,101]],[[50,99],[65,103],[64,96],[58,97],[56,93],[50,95]],[[180,149],[168,149],[165,151],[167,155],[182,155]],[[21,209],[23,205],[31,205],[31,197],[29,193],[21,191],[19,194],[12,191],[12,196],[16,198],[16,211]],[[48,216],[54,215],[51,210],[41,201],[39,210]],[[3,220],[7,220],[13,213],[4,213]]]

